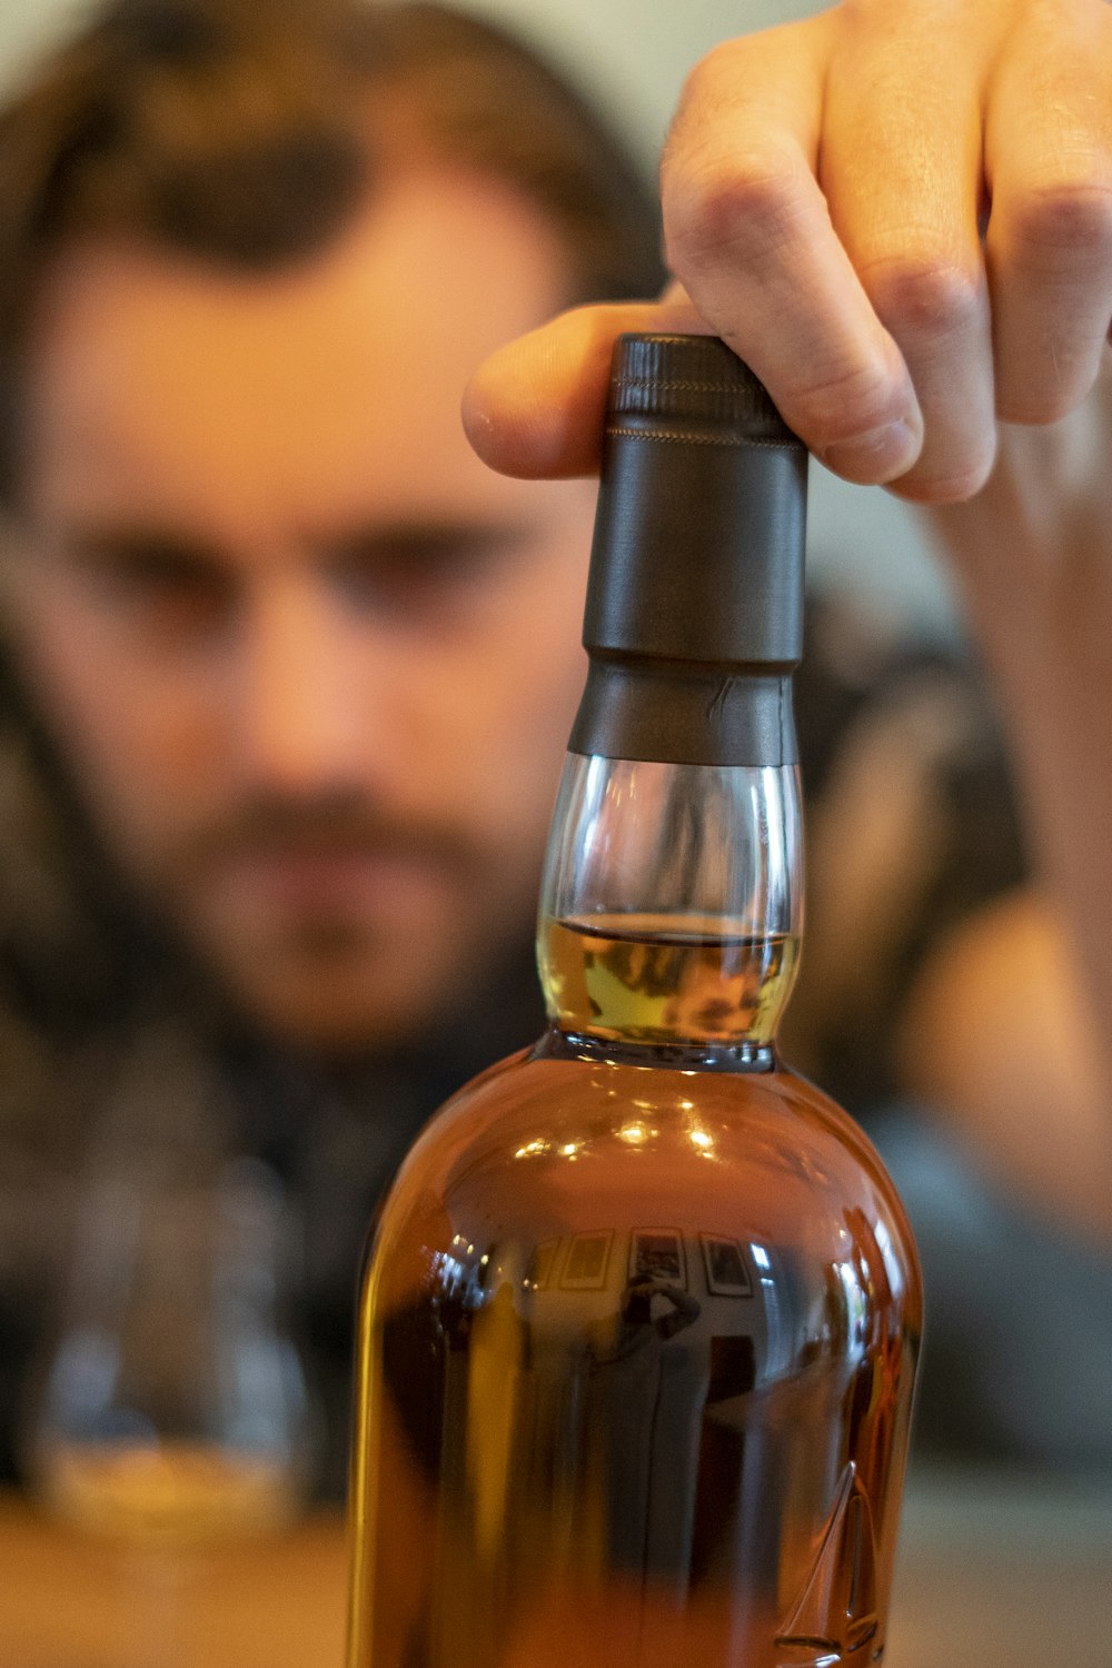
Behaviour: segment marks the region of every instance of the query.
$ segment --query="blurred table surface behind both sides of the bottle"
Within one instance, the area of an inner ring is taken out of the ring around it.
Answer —
[[[175,1578],[0,1498],[0,1668],[338,1668],[345,1578],[337,1516]],[[1112,1668],[1112,1481],[914,1478],[885,1668],[1067,1663]]]

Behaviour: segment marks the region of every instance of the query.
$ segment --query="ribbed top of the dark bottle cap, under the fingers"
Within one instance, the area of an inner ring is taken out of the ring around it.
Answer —
[[[624,335],[614,360],[607,425],[625,419],[707,424],[720,442],[802,445],[754,372],[717,335]],[[734,432],[734,434],[732,434]]]

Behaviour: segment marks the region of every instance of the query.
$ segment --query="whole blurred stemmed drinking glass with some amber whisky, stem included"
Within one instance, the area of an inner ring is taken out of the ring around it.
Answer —
[[[313,1480],[320,1433],[290,1329],[298,1223],[275,1171],[235,1156],[230,1106],[172,1031],[88,1103],[25,1465],[40,1503],[110,1553],[88,1660],[195,1668],[203,1555],[287,1526]]]

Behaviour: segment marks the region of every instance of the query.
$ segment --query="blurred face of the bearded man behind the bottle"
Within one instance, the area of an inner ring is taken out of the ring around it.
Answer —
[[[310,1046],[467,999],[530,917],[594,492],[490,474],[458,399],[562,277],[430,173],[293,275],[90,247],[48,297],[27,676],[125,871]]]

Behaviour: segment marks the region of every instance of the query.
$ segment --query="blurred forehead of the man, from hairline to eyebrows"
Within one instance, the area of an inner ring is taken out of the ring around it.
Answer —
[[[32,460],[87,507],[170,489],[297,499],[310,484],[332,502],[363,475],[395,499],[388,514],[438,494],[493,509],[508,484],[470,455],[458,397],[488,350],[552,310],[553,260],[520,202],[448,175],[383,193],[322,257],[270,279],[75,249],[43,312]]]

